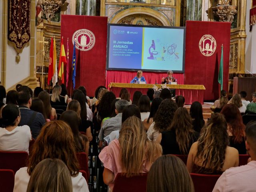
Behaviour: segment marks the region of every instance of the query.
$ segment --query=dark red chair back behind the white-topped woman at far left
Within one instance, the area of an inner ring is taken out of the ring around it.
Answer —
[[[18,171],[27,166],[28,153],[25,151],[0,151],[0,169]]]

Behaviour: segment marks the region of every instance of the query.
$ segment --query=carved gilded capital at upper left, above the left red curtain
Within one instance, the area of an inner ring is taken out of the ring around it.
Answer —
[[[54,14],[64,5],[66,0],[42,0],[44,14],[48,21],[54,18]]]

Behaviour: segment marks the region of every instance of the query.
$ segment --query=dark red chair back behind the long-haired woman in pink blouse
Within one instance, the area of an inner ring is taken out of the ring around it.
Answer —
[[[148,174],[126,177],[118,173],[115,179],[113,192],[146,192]]]

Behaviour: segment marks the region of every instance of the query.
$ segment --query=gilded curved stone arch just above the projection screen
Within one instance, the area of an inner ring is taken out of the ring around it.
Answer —
[[[170,22],[167,20],[167,18],[163,16],[160,12],[157,12],[150,8],[144,8],[144,7],[128,8],[126,10],[123,10],[118,14],[116,14],[112,18],[112,20],[110,20],[110,23],[120,23],[120,20],[136,14],[143,14],[143,15],[150,16],[151,18],[158,20],[163,26],[171,25]]]

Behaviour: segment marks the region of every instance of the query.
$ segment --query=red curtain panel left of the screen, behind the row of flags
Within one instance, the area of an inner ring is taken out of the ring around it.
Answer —
[[[107,44],[107,17],[99,16],[61,16],[61,36],[64,38],[65,51],[67,51],[67,39],[69,46],[69,82],[68,92],[71,85],[71,62],[73,55],[72,36],[80,29],[90,30],[95,36],[95,44],[92,49],[82,51],[76,49],[76,87],[85,86],[88,96],[94,96],[94,91],[100,85],[105,84],[106,71],[106,44]],[[66,69],[66,67],[64,67]],[[66,80],[66,70],[64,71]]]

